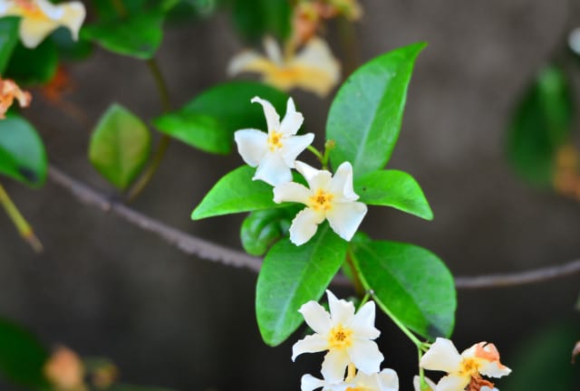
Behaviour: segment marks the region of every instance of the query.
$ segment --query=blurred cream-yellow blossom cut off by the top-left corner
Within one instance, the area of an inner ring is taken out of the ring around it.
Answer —
[[[53,5],[48,0],[0,0],[1,16],[22,17],[20,39],[27,48],[38,46],[60,26],[68,28],[77,40],[85,14],[79,1]]]

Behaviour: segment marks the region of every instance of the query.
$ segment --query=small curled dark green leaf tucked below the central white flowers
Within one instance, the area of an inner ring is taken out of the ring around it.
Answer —
[[[278,239],[287,234],[292,220],[304,205],[252,212],[240,229],[242,245],[247,253],[264,255]]]

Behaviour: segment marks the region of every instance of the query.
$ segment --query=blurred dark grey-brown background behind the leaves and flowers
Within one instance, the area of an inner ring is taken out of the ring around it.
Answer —
[[[564,0],[362,0],[361,5],[362,19],[354,24],[360,62],[410,43],[429,43],[416,63],[389,167],[418,180],[435,215],[426,222],[372,208],[362,229],[377,239],[426,247],[456,276],[577,259],[580,203],[528,186],[509,167],[505,140],[530,80],[580,26],[580,5]],[[341,58],[336,33],[331,25],[325,37]],[[243,47],[227,14],[169,26],[157,57],[173,104],[225,81],[228,60]],[[86,123],[42,98],[34,98],[25,115],[41,131],[56,167],[114,197],[87,161],[91,129],[111,100],[144,119],[159,115],[154,82],[143,62],[101,49],[69,71],[75,90],[68,99],[85,111]],[[325,100],[301,91],[292,96],[305,128],[321,139],[333,94]],[[241,164],[235,153],[218,157],[173,141],[133,206],[241,249],[243,215],[189,219],[218,178]],[[295,390],[304,373],[318,374],[320,357],[300,357],[295,364],[290,359],[302,330],[277,348],[260,339],[254,272],[185,256],[115,215],[81,205],[50,180],[37,191],[4,182],[44,252],[33,253],[0,215],[0,314],[47,345],[111,358],[123,381],[180,390]],[[339,297],[353,293],[334,291]],[[459,291],[453,339],[459,350],[480,340],[498,346],[502,362],[514,369],[497,383],[502,390],[580,389],[580,366],[570,365],[580,339],[579,291],[577,274]],[[412,389],[415,348],[385,316],[377,323],[383,366],[399,372],[401,390]]]

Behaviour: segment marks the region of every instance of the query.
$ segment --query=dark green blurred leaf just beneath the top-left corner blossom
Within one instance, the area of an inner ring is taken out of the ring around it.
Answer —
[[[53,41],[46,39],[34,49],[16,44],[5,76],[19,84],[43,84],[53,80],[58,66],[58,54]]]

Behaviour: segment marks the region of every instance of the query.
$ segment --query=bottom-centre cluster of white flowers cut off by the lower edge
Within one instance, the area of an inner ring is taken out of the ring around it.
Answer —
[[[356,313],[350,301],[338,300],[326,291],[330,313],[316,301],[300,308],[314,334],[295,343],[292,359],[302,353],[327,351],[322,379],[304,375],[302,391],[396,391],[399,378],[392,369],[380,369],[383,357],[376,342],[381,332],[374,327],[374,302],[365,303]],[[345,377],[346,373],[346,377]]]

